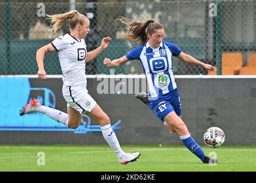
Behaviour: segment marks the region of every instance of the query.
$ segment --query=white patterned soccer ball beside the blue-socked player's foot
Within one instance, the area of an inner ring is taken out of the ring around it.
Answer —
[[[225,141],[225,133],[218,127],[211,127],[204,133],[203,140],[207,146],[218,148]]]

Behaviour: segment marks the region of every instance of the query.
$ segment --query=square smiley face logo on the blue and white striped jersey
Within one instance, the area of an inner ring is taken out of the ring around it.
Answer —
[[[149,59],[152,73],[159,73],[167,69],[167,61],[165,57],[155,57]]]

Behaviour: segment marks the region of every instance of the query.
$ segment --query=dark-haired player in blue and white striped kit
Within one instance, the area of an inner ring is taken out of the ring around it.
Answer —
[[[131,21],[121,17],[120,22],[128,27],[128,34],[122,33],[125,39],[137,41],[140,46],[131,50],[121,58],[111,61],[104,59],[104,65],[118,67],[133,59],[138,59],[147,78],[149,86],[148,106],[171,132],[177,132],[183,144],[194,153],[203,163],[209,163],[208,158],[200,146],[188,132],[181,116],[179,92],[172,71],[172,56],[184,62],[200,65],[208,70],[214,67],[200,62],[186,53],[183,53],[174,43],[163,41],[164,28],[161,23],[148,19],[144,22]],[[212,159],[211,162],[216,162]]]

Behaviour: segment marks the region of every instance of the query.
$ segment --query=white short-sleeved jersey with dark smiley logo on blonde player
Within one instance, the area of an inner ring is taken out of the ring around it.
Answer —
[[[64,85],[86,86],[85,58],[87,50],[84,39],[78,40],[68,33],[54,39],[52,45],[58,51]]]

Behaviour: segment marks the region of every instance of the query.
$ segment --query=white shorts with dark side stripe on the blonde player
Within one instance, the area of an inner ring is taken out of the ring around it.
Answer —
[[[77,110],[80,114],[91,112],[96,101],[88,94],[85,85],[62,87],[62,94],[68,103],[67,106]]]

